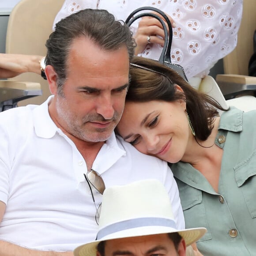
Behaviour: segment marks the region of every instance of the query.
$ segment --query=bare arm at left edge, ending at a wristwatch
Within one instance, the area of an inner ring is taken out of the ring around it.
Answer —
[[[0,78],[11,78],[24,72],[40,74],[42,56],[0,53]]]

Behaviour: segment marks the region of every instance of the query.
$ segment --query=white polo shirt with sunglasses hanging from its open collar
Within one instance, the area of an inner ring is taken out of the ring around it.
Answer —
[[[40,250],[69,251],[97,233],[86,162],[49,116],[48,103],[0,113],[0,240]],[[177,184],[166,162],[139,153],[114,133],[92,168],[106,187],[155,178],[169,191],[177,228],[184,228]],[[154,189],[154,188],[152,188]],[[102,195],[93,190],[96,203]]]

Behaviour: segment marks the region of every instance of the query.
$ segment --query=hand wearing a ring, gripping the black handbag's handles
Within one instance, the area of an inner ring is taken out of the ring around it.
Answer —
[[[159,13],[154,11],[152,13],[154,13],[155,15],[158,15],[160,18],[163,19],[162,15],[160,15]],[[176,23],[173,21],[173,19],[169,15],[167,15],[167,17],[169,18],[172,24],[172,27],[176,27]],[[166,23],[164,19],[163,21],[164,23]],[[166,23],[166,26],[167,26],[167,23]],[[168,26],[167,26],[167,30],[168,30]],[[169,34],[169,30],[168,30],[168,34]],[[164,45],[165,34],[164,34],[162,24],[153,17],[143,17],[139,22],[138,30],[134,36],[135,41],[137,43],[137,46],[135,49],[136,55],[139,53],[142,53],[143,50],[146,48],[148,44],[148,41],[147,41],[148,36],[150,36],[151,44],[159,44],[161,46]],[[159,36],[161,38],[159,38]]]

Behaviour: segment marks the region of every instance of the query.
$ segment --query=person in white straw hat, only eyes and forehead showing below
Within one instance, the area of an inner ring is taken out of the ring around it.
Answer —
[[[75,256],[184,256],[205,228],[177,230],[166,188],[149,179],[105,189],[95,241]]]

